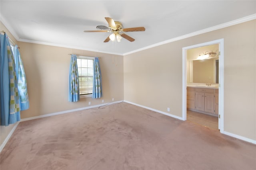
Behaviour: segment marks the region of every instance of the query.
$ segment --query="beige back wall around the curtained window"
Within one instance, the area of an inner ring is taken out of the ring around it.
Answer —
[[[28,82],[30,108],[21,112],[21,118],[34,117],[123,100],[123,57],[114,55],[117,66],[112,63],[112,55],[19,42]],[[102,73],[102,98],[81,98],[79,102],[68,102],[68,74],[70,55],[100,57]],[[114,60],[115,61],[115,60]]]

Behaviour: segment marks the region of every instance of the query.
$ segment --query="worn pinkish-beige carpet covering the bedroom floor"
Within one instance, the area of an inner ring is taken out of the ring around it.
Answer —
[[[256,145],[127,103],[21,122],[1,170],[255,170]]]

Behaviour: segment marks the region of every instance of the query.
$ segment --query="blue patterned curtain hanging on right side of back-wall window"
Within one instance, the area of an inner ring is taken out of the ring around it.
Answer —
[[[93,91],[92,98],[102,97],[102,85],[101,85],[101,73],[100,73],[100,63],[99,58],[96,57],[93,63]]]

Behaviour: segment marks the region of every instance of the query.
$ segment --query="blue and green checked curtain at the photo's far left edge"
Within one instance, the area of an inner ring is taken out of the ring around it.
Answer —
[[[20,121],[20,98],[14,55],[6,34],[1,34],[0,51],[1,125],[8,126]]]

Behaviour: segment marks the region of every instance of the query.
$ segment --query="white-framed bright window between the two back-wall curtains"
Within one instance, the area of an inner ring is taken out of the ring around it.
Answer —
[[[92,94],[94,57],[77,56],[79,94]]]

